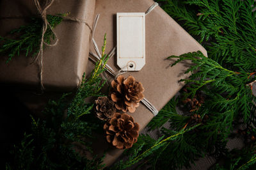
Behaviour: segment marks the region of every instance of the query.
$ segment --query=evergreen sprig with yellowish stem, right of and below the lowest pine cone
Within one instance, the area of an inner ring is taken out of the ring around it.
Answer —
[[[150,164],[154,167],[154,169],[164,169],[166,167],[172,169],[175,162],[172,162],[170,160],[172,160],[172,157],[177,157],[177,155],[168,155],[167,162],[164,162],[165,164],[159,164],[159,161],[161,162],[161,159],[163,157],[166,157],[164,153],[166,153],[166,151],[170,151],[170,148],[168,148],[168,146],[179,143],[180,138],[182,138],[184,134],[188,133],[189,131],[195,129],[198,126],[200,126],[200,124],[186,130],[184,128],[179,132],[172,131],[168,135],[166,135],[167,137],[163,135],[157,140],[152,139],[148,135],[140,135],[140,137],[138,138],[138,142],[135,143],[134,146],[127,152],[130,153],[130,157],[128,158],[128,160],[126,160],[125,162],[121,160],[120,162],[117,162],[115,165],[113,165],[110,169],[125,169],[140,162],[140,160],[146,157],[147,161],[143,164]],[[186,150],[186,148],[187,146],[185,145],[182,149]],[[166,160],[166,158],[164,158],[164,160]]]

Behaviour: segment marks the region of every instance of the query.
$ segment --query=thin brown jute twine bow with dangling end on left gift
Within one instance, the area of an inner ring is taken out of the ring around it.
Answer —
[[[42,89],[42,91],[44,91],[45,88],[44,88],[44,83],[43,83],[43,51],[44,51],[43,47],[44,47],[44,44],[52,47],[52,46],[57,45],[57,43],[58,43],[58,37],[57,37],[56,33],[53,31],[51,25],[49,24],[49,22],[47,20],[47,14],[46,14],[46,11],[50,8],[50,6],[54,2],[54,0],[49,0],[49,1],[46,0],[44,8],[41,7],[38,0],[34,0],[34,2],[35,2],[38,12],[40,13],[40,16],[42,17],[43,26],[42,26],[42,38],[41,38],[41,42],[40,42],[40,49],[39,49],[39,52],[38,52],[36,58],[34,59],[33,63],[35,63],[35,61],[38,61],[38,58],[40,57],[40,65],[39,65],[40,66],[40,76],[39,77],[40,77],[41,89]],[[45,35],[48,27],[51,29],[52,33],[56,37],[56,40],[53,44],[49,44],[44,41],[44,35]]]

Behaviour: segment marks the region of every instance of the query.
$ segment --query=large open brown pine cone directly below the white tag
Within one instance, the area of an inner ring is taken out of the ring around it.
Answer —
[[[116,80],[111,82],[113,91],[111,99],[115,102],[115,107],[124,112],[134,112],[144,98],[144,88],[141,82],[138,82],[131,75],[124,79],[119,75]]]

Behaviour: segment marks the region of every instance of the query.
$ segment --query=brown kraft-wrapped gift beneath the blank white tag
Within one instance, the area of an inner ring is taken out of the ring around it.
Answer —
[[[145,12],[154,4],[152,0],[97,0],[95,13],[100,14],[98,26],[95,29],[95,42],[100,44],[107,35],[106,52],[108,53],[116,44],[116,13],[118,12]],[[152,104],[160,110],[164,105],[184,86],[180,79],[186,79],[189,75],[184,72],[190,65],[184,61],[173,67],[166,61],[168,56],[179,56],[187,52],[200,50],[205,56],[207,52],[196,40],[194,40],[182,27],[177,24],[159,6],[146,17],[146,65],[140,72],[132,72],[130,75],[136,77],[145,88],[144,95]],[[91,43],[90,50],[93,51]],[[108,65],[117,72],[116,59],[110,58]],[[87,75],[93,70],[94,64],[89,61],[86,68]],[[153,118],[152,113],[145,107],[140,106],[134,113],[129,113],[134,117],[135,122],[140,124],[140,131],[145,128]],[[108,148],[108,143],[102,136],[95,143],[95,153],[102,155],[104,148]],[[103,164],[107,166],[122,154],[123,150],[111,149],[106,153]]]

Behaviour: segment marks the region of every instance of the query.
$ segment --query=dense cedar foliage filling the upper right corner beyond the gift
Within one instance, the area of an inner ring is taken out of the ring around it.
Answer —
[[[256,66],[256,2],[253,0],[160,0],[163,9],[182,20],[208,56],[237,72],[254,72]],[[195,10],[196,9],[196,10]]]

